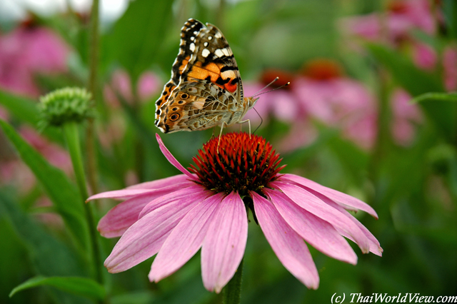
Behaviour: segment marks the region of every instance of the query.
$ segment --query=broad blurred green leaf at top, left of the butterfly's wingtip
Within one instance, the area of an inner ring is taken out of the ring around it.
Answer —
[[[101,37],[106,63],[119,61],[134,80],[159,61],[156,54],[171,21],[173,1],[131,1],[125,14]]]

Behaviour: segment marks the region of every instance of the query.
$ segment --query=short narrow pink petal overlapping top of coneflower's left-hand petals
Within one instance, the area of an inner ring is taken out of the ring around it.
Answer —
[[[169,193],[167,196],[161,196],[156,198],[154,201],[150,201],[139,213],[139,218],[146,216],[146,214],[151,211],[154,211],[160,206],[164,206],[172,201],[185,200],[186,198],[189,198],[189,193],[193,193],[191,199],[197,203],[204,201],[205,198],[212,194],[211,191],[206,191],[203,186],[192,183],[192,186],[189,188],[174,191],[173,193]]]

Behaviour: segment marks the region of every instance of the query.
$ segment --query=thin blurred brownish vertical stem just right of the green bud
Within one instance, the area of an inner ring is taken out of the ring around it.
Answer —
[[[90,49],[89,49],[89,83],[88,90],[92,94],[94,101],[97,100],[97,68],[99,64],[99,0],[92,1],[91,9],[91,28],[90,28]],[[86,130],[86,149],[87,149],[87,166],[88,181],[92,193],[98,193],[96,178],[96,155],[94,147],[94,119],[89,119],[89,125]]]

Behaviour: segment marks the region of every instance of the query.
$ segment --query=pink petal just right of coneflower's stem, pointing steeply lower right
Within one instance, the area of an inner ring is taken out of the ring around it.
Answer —
[[[258,223],[278,259],[306,287],[317,289],[316,265],[303,238],[288,226],[270,201],[255,192],[251,197]]]

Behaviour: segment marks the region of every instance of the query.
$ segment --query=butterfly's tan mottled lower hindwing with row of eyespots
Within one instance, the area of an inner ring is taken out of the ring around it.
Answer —
[[[236,98],[211,81],[196,80],[179,83],[169,103],[161,108],[158,128],[164,133],[205,130],[222,123],[239,121],[243,111],[233,111]]]

